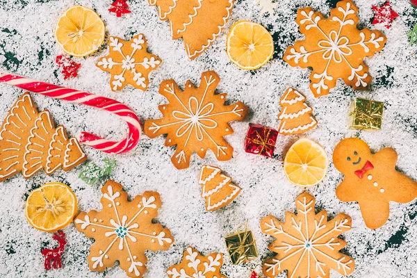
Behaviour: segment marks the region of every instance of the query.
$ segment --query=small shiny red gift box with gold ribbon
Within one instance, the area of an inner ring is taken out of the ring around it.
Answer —
[[[278,131],[261,124],[249,124],[245,138],[245,152],[272,157],[277,142]]]

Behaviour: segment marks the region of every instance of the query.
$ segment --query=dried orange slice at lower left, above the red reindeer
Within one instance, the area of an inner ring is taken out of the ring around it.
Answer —
[[[40,231],[58,231],[72,222],[77,202],[71,188],[63,183],[46,183],[26,200],[26,220]]]

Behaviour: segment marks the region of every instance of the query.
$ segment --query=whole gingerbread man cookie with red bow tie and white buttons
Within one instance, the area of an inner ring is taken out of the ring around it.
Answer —
[[[395,170],[397,156],[392,148],[372,154],[358,138],[341,140],[334,149],[334,166],[345,175],[336,196],[342,202],[358,202],[370,229],[386,223],[389,202],[408,203],[417,197],[417,183]]]

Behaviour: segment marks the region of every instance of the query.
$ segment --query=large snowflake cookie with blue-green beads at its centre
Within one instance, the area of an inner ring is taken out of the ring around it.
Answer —
[[[101,188],[101,211],[80,213],[74,220],[75,227],[95,243],[90,248],[90,270],[104,271],[120,262],[120,268],[129,277],[141,278],[146,272],[146,250],[167,250],[174,239],[169,229],[152,220],[161,207],[159,193],[145,191],[132,202],[122,185],[108,181]]]

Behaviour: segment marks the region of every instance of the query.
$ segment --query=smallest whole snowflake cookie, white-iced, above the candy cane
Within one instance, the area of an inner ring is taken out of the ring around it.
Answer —
[[[110,52],[99,60],[97,67],[110,72],[111,90],[122,90],[126,84],[131,84],[145,91],[149,73],[161,64],[161,59],[147,52],[145,35],[134,35],[129,41],[110,37],[108,45]]]

